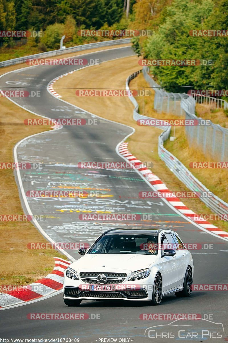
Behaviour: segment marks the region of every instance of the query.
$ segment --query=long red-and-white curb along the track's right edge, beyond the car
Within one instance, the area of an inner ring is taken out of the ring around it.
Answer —
[[[119,153],[128,161],[134,161],[135,168],[139,171],[140,174],[155,188],[157,191],[160,192],[171,192],[166,185],[159,179],[159,177],[152,173],[152,171],[146,167],[140,167],[142,165],[142,161],[137,159],[128,151],[128,143],[121,143],[119,145]],[[211,233],[218,235],[219,237],[226,237],[228,238],[228,232],[221,230],[217,226],[207,222],[206,220],[193,220],[192,215],[196,214],[195,212],[189,210],[185,204],[179,200],[179,198],[166,198],[169,201],[170,205],[172,205],[176,210],[180,213],[189,217],[193,222],[201,226],[202,228],[210,231]]]

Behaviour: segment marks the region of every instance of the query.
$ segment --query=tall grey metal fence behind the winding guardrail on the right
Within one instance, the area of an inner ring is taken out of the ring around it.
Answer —
[[[186,119],[196,119],[201,122],[202,118],[195,115],[196,103],[214,105],[216,108],[228,108],[228,103],[222,99],[211,96],[189,96],[185,93],[168,93],[161,89],[151,76],[148,74],[149,68],[143,68],[145,80],[155,91],[154,108],[161,113],[173,113],[176,116],[185,115]],[[203,126],[186,126],[185,131],[189,146],[197,145],[201,151],[219,161],[228,161],[228,130],[220,125],[213,124]]]

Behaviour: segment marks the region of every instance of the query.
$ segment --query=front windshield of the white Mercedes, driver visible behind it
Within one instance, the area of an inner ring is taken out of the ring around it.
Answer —
[[[155,234],[109,234],[95,242],[88,254],[157,255],[157,246]]]

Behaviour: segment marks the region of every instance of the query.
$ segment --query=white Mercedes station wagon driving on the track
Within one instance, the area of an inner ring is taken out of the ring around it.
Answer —
[[[64,273],[63,299],[145,300],[192,293],[193,260],[180,237],[169,229],[115,228],[104,232]]]

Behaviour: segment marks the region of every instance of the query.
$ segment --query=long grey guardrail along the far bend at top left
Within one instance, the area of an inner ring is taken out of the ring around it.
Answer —
[[[103,46],[112,46],[112,45],[127,44],[127,43],[131,43],[131,38],[120,38],[120,39],[116,39],[116,40],[105,40],[104,42],[83,44],[83,45],[77,45],[77,46],[73,46],[73,47],[66,48],[66,49],[46,51],[46,52],[41,52],[40,54],[23,56],[23,57],[13,58],[13,59],[7,60],[7,61],[2,61],[2,62],[0,62],[0,68],[12,66],[13,64],[23,63],[23,62],[27,61],[28,59],[32,59],[32,58],[51,57],[51,56],[56,56],[56,55],[67,54],[69,52],[76,52],[76,51],[88,50],[88,49],[93,49],[93,48],[100,48]]]

